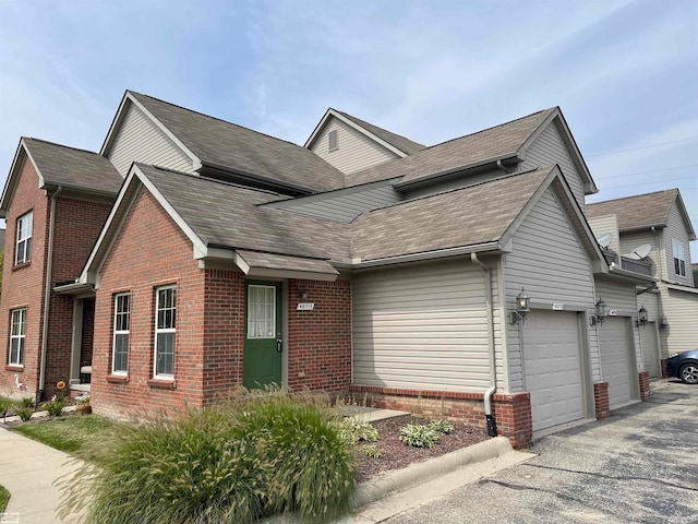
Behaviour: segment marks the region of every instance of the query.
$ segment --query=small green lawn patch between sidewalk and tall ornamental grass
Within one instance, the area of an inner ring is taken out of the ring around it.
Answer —
[[[64,451],[87,462],[101,463],[109,453],[109,441],[119,422],[99,415],[69,415],[40,422],[22,424],[13,431]]]

